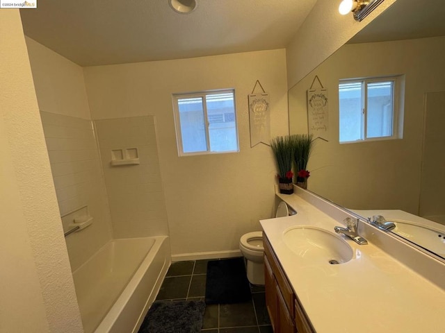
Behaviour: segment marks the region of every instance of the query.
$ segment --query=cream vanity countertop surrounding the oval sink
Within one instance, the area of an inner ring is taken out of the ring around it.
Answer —
[[[371,241],[360,246],[344,237],[354,255],[343,264],[314,264],[291,251],[287,229],[311,225],[334,233],[341,223],[296,194],[285,198],[298,214],[260,223],[317,333],[445,331],[444,289]]]

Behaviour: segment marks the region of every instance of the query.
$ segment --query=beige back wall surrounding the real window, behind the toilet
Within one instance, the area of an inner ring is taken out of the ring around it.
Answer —
[[[86,67],[92,119],[156,117],[172,253],[220,255],[273,214],[275,164],[268,146],[250,148],[248,94],[270,94],[271,135],[287,133],[284,49],[160,62]],[[178,157],[172,93],[235,88],[240,152]]]

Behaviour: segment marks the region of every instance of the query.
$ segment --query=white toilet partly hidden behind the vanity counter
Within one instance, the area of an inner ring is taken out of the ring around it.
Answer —
[[[296,212],[292,212],[292,214],[296,214]],[[289,216],[289,208],[284,201],[281,201],[275,217],[284,216]],[[254,231],[243,234],[239,240],[239,249],[247,261],[249,282],[254,285],[264,285],[263,232]]]

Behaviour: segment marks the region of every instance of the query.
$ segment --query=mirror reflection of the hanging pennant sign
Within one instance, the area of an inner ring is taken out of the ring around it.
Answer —
[[[318,80],[321,87],[314,88],[315,80]],[[318,76],[315,76],[311,87],[307,90],[307,127],[309,134],[325,139],[325,141],[329,137],[327,110],[327,89],[323,87]]]

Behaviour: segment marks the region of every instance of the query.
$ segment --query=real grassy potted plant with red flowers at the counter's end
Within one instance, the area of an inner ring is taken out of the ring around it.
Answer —
[[[270,140],[270,147],[275,155],[275,162],[277,162],[280,193],[293,194],[293,146],[291,137],[289,135],[275,137]]]

